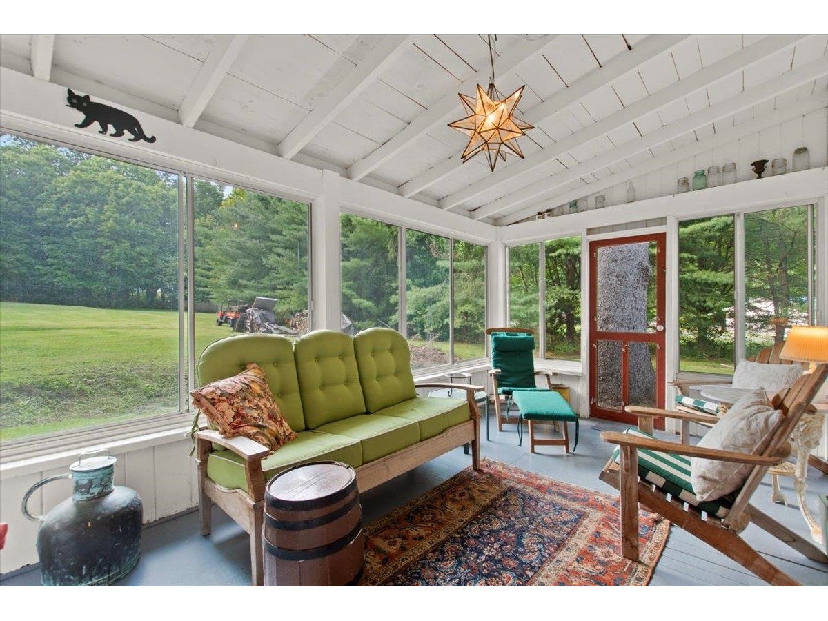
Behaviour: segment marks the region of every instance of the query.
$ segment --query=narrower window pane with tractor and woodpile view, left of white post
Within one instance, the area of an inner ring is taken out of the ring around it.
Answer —
[[[232,332],[308,330],[308,205],[195,180],[195,356]]]

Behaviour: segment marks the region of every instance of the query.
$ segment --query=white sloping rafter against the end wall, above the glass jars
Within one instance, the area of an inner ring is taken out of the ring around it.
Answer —
[[[722,147],[730,142],[736,142],[737,140],[741,140],[742,138],[748,137],[756,132],[763,132],[767,129],[777,127],[794,118],[800,118],[808,113],[814,112],[815,110],[825,108],[826,105],[828,105],[828,94],[826,93],[804,99],[801,102],[797,102],[790,108],[775,110],[767,116],[753,118],[745,123],[739,123],[739,125],[734,128],[729,128],[727,131],[716,133],[705,140],[693,142],[686,147],[681,147],[680,149],[666,153],[663,156],[658,156],[651,161],[646,161],[638,166],[633,166],[633,168],[630,168],[627,171],[606,176],[600,179],[597,183],[581,185],[580,187],[575,188],[575,190],[570,190],[564,194],[553,196],[549,201],[536,203],[532,205],[532,207],[521,209],[520,211],[504,216],[501,219],[497,219],[494,224],[498,226],[515,224],[523,219],[534,216],[538,211],[548,209],[549,205],[566,205],[566,203],[570,200],[583,198],[585,192],[589,195],[593,195],[609,190],[609,188],[614,185],[620,185],[635,179],[636,177],[659,171],[665,166],[671,166],[672,164],[686,160],[689,157],[709,152],[712,149]]]

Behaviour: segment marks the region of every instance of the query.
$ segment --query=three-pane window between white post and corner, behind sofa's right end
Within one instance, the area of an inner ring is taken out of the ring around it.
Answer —
[[[400,330],[404,318],[412,368],[484,358],[484,246],[351,214],[340,230],[344,331]]]

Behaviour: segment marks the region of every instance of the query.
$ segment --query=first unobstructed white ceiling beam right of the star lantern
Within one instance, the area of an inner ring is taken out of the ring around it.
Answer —
[[[760,39],[753,45],[745,47],[734,54],[725,56],[724,59],[715,62],[713,65],[696,71],[696,73],[689,75],[685,79],[681,79],[652,95],[639,99],[627,108],[612,113],[608,117],[604,117],[586,128],[570,134],[570,136],[546,147],[542,151],[534,153],[524,160],[516,161],[511,166],[496,171],[483,180],[467,185],[462,190],[446,196],[443,200],[440,200],[440,207],[443,209],[451,209],[452,207],[460,205],[465,200],[472,199],[474,196],[493,190],[508,181],[513,181],[518,176],[534,171],[539,166],[546,166],[546,164],[555,160],[556,157],[578,147],[580,144],[590,142],[597,137],[603,136],[605,133],[612,132],[614,129],[630,123],[636,118],[643,117],[645,114],[662,108],[667,103],[683,99],[696,93],[696,91],[705,89],[709,84],[713,84],[729,75],[738,73],[746,67],[754,65],[785,48],[793,47],[802,38],[803,36],[780,35],[767,36]],[[532,123],[532,121],[529,122]]]

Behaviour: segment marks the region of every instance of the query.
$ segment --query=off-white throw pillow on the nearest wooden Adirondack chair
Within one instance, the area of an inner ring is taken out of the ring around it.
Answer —
[[[764,366],[774,366],[766,364]],[[748,392],[726,412],[697,446],[755,453],[768,447],[782,412],[768,404],[763,390]],[[753,465],[691,457],[690,480],[699,500],[715,500],[739,489]]]

